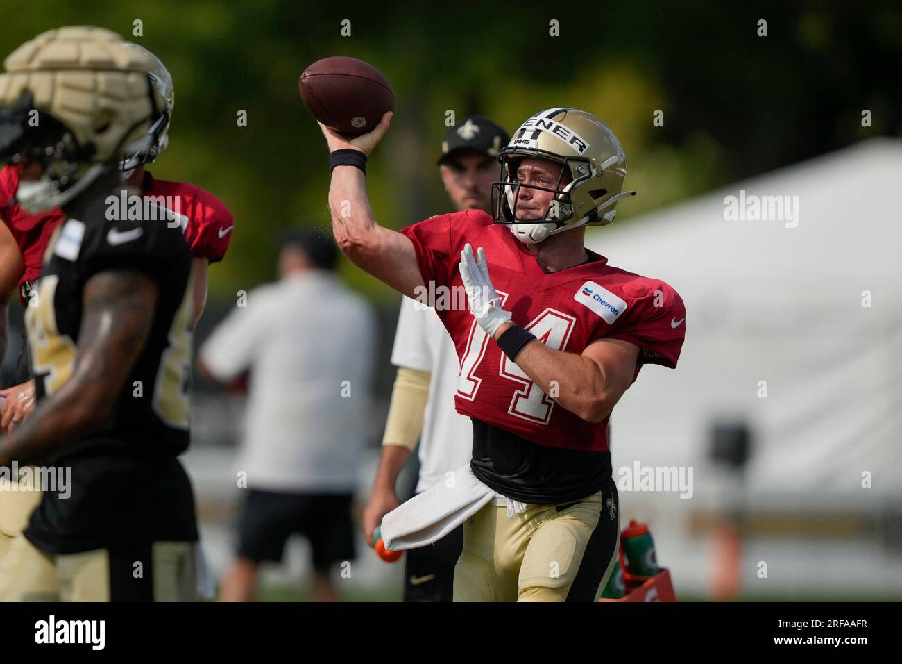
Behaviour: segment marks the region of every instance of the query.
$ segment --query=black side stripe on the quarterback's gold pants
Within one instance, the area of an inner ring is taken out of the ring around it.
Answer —
[[[617,495],[617,483],[613,478],[608,478],[602,487],[602,514],[585,546],[583,560],[566,596],[567,602],[594,602],[602,592],[603,588],[600,586],[602,582],[607,582],[612,563],[617,558],[619,533],[620,499]]]

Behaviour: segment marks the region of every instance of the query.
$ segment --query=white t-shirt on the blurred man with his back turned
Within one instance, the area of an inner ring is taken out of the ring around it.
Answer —
[[[368,433],[373,311],[331,273],[247,295],[200,351],[216,379],[250,369],[237,471],[252,489],[354,491]]]

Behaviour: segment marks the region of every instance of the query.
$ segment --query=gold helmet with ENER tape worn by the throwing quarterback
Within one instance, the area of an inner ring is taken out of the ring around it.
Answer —
[[[518,182],[517,172],[525,157],[561,164],[557,185],[552,189]],[[575,108],[549,108],[529,117],[498,160],[502,163],[501,181],[492,182],[495,221],[509,225],[525,244],[583,225],[609,224],[617,201],[636,195],[623,191],[626,155],[611,127]],[[542,220],[518,216],[522,188],[554,193]]]

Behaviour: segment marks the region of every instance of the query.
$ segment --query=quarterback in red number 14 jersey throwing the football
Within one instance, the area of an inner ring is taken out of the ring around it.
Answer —
[[[622,191],[621,145],[589,113],[542,111],[499,154],[493,218],[467,210],[396,232],[375,223],[364,186],[390,120],[354,139],[321,126],[329,203],[345,255],[434,304],[456,345],[470,471],[497,500],[467,519],[455,600],[567,600],[590,546],[609,552],[591,576],[600,589],[619,538],[608,418],[644,364],[676,367],[686,330],[673,288],[584,248],[585,225],[610,223],[634,193]],[[600,519],[614,527],[593,544]]]

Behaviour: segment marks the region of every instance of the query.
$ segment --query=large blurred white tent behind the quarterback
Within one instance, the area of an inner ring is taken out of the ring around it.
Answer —
[[[902,140],[871,139],[590,230],[613,266],[663,279],[686,302],[678,367],[642,369],[614,409],[612,454],[615,478],[636,462],[691,466],[694,500],[621,492],[624,516],[678,521],[723,500],[727,476],[708,459],[721,417],[755,436],[752,510],[902,499],[900,190]],[[731,220],[731,196],[752,213],[757,197],[788,196],[796,215]]]

